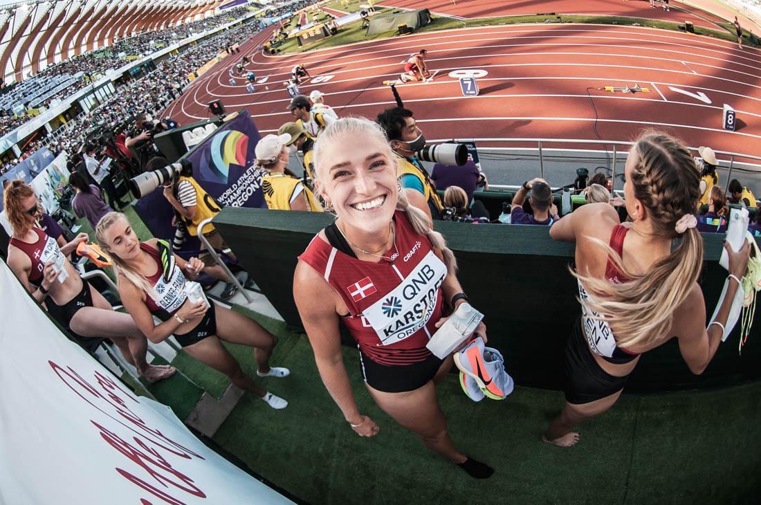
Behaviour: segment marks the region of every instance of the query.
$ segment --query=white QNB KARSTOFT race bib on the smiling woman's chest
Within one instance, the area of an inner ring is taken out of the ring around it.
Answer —
[[[446,276],[447,265],[429,251],[399,286],[362,311],[381,345],[403,341],[428,323]]]

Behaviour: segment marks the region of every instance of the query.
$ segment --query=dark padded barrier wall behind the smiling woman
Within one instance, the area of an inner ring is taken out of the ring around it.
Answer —
[[[288,326],[300,329],[292,291],[297,256],[331,220],[329,214],[312,212],[224,208],[214,223]],[[521,386],[561,389],[562,349],[580,310],[576,281],[568,273],[573,244],[552,240],[549,229],[539,226],[439,221],[436,229],[454,250],[460,283],[486,315],[489,345],[501,351],[508,372]],[[709,317],[727,272],[718,265],[724,236],[704,233],[703,239],[699,281]],[[755,319],[742,355],[737,353],[739,322],[701,376],[689,371],[672,339],[641,358],[627,391],[724,387],[758,379],[761,322]]]

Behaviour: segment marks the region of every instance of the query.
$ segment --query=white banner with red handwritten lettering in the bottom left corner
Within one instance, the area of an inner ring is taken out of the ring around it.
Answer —
[[[2,261],[0,286],[0,503],[291,503],[133,395]]]

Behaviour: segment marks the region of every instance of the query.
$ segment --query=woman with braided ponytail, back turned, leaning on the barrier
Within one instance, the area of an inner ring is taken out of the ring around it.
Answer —
[[[728,292],[706,329],[697,283],[703,241],[693,216],[700,198],[695,160],[668,135],[645,132],[629,151],[625,170],[631,227],[619,223],[610,205],[594,203],[549,230],[555,240],[576,243],[581,300],[581,317],[565,348],[565,408],[543,435],[558,446],[575,444],[573,427],[613,406],[639,355],[670,338],[679,339],[689,370],[702,373],[721,342],[750,255],[748,244],[738,253],[725,246]],[[677,237],[682,242],[671,252]]]

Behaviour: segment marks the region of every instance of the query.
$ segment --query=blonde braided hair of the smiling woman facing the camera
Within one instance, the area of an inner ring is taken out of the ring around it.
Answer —
[[[384,130],[376,122],[361,117],[344,117],[338,119],[336,122],[331,123],[328,127],[320,133],[317,140],[314,141],[314,189],[318,194],[322,193],[322,177],[323,173],[327,170],[330,160],[326,160],[323,154],[325,146],[332,142],[342,142],[345,135],[358,135],[360,138],[375,138],[381,145],[385,146],[385,152],[387,159],[393,161],[395,154],[388,143],[388,138]],[[433,229],[431,219],[428,218],[428,214],[412,205],[407,200],[407,197],[403,190],[397,192],[398,200],[396,201],[396,209],[404,211],[407,214],[407,219],[416,233],[425,235],[428,240],[431,241],[431,246],[441,251],[441,255],[444,256],[444,264],[447,265],[447,271],[454,274],[457,272],[457,260],[454,258],[454,253],[447,247],[447,241],[444,240],[444,236],[438,231]],[[332,207],[325,209],[328,212],[332,212]]]

